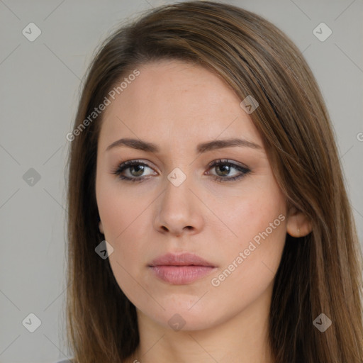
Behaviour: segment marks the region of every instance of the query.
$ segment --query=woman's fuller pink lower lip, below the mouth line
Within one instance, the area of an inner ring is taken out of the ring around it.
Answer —
[[[157,277],[169,284],[189,284],[216,269],[211,266],[150,266]]]

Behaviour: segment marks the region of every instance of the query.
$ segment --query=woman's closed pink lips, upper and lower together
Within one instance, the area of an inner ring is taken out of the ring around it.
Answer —
[[[149,267],[156,276],[169,284],[189,284],[210,274],[216,266],[191,253],[168,253],[154,259]]]

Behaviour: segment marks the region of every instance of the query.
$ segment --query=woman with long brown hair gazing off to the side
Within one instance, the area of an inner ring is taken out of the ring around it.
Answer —
[[[74,362],[363,362],[332,126],[279,29],[150,11],[102,45],[67,139]]]

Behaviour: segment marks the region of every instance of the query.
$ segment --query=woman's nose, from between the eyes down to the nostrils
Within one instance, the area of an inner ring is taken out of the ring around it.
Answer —
[[[179,186],[169,179],[161,194],[155,217],[155,228],[160,233],[174,236],[199,233],[203,227],[203,203],[191,190],[188,178]]]

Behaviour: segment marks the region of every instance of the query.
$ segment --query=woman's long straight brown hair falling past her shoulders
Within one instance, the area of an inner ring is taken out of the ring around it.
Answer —
[[[301,52],[255,13],[213,1],[162,6],[123,24],[101,45],[79,100],[69,154],[67,333],[74,361],[124,362],[138,347],[135,306],[95,247],[96,154],[102,113],[115,84],[147,62],[193,62],[222,77],[241,101],[259,103],[251,118],[267,147],[289,205],[313,230],[286,235],[274,280],[269,342],[279,363],[363,362],[362,254],[335,136],[318,84]],[[324,313],[332,325],[320,332]]]

